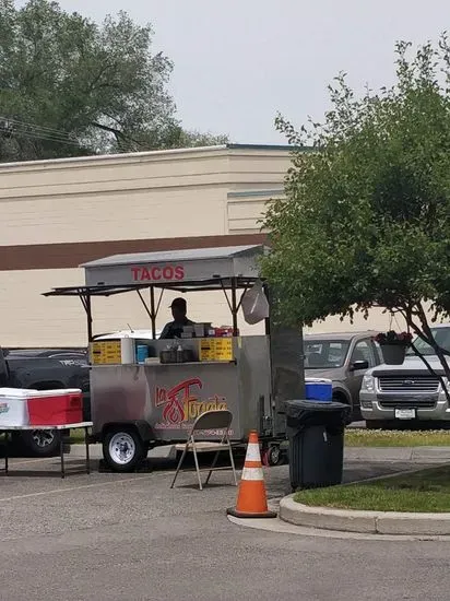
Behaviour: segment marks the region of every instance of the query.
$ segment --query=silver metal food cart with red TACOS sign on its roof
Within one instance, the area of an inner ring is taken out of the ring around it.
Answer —
[[[186,441],[196,417],[222,408],[233,413],[236,445],[244,445],[249,431],[256,429],[268,462],[280,461],[280,445],[286,439],[283,402],[304,398],[301,331],[280,328],[270,316],[261,335],[239,335],[238,331],[242,297],[260,283],[259,260],[265,251],[262,245],[251,245],[118,255],[81,266],[84,285],[45,293],[78,296],[85,309],[93,438],[102,441],[104,459],[112,470],[132,471],[149,449]],[[182,355],[170,355],[168,341],[156,340],[156,318],[165,291],[222,291],[232,315],[232,331],[217,338],[208,327],[202,331],[191,328],[186,334],[189,338],[177,341]],[[153,340],[95,341],[92,298],[125,293],[139,296]],[[265,284],[264,293],[270,306]],[[205,433],[212,440],[220,437],[220,432]]]

